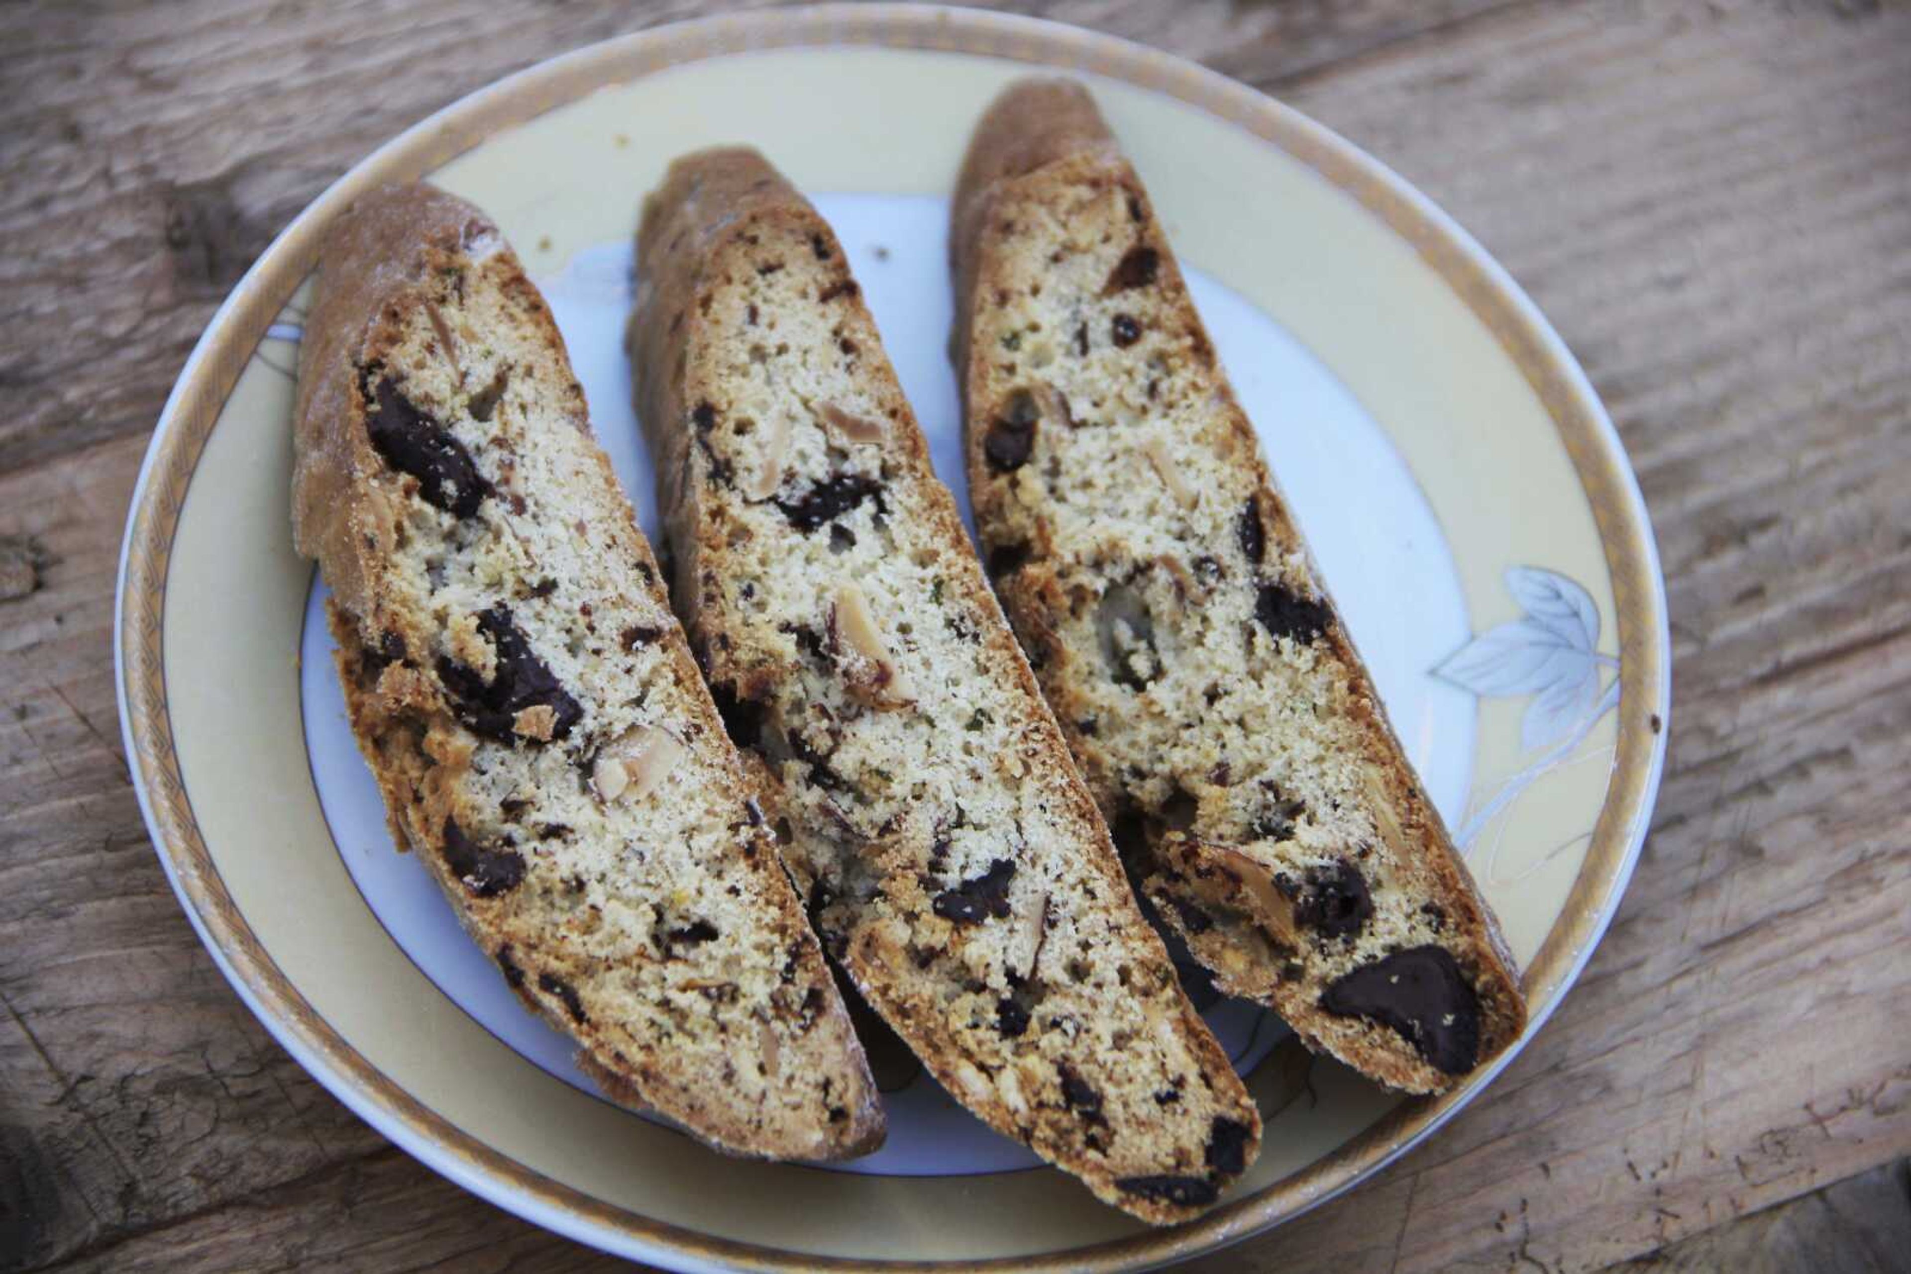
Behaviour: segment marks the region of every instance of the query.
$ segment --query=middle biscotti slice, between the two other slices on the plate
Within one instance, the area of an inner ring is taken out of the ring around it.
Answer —
[[[829,225],[755,151],[644,206],[631,325],[673,598],[870,1005],[1154,1222],[1259,1117],[1141,917]]]

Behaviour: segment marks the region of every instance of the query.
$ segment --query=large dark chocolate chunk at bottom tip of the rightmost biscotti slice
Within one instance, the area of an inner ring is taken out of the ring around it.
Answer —
[[[1321,1007],[1393,1028],[1449,1075],[1479,1060],[1479,997],[1445,947],[1408,947],[1361,965],[1321,995]]]

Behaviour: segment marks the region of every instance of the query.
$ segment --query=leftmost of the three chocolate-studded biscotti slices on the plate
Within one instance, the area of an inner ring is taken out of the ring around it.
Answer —
[[[822,947],[497,227],[428,185],[329,233],[292,525],[399,848],[613,1098],[743,1156],[873,1150]]]

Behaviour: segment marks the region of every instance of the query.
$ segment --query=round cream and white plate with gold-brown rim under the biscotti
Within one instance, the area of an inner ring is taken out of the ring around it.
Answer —
[[[1254,1005],[1215,1003],[1267,1142],[1219,1207],[1166,1232],[1036,1165],[892,1049],[875,1054],[881,1152],[738,1163],[604,1102],[390,844],[344,726],[323,584],[289,531],[290,371],[325,222],[405,178],[497,218],[655,535],[619,348],[629,235],[669,159],[753,143],[835,223],[963,497],[946,195],[977,113],[1030,63],[1085,78],[1149,181],[1395,726],[1506,924],[1533,1030],[1630,873],[1668,670],[1645,512],[1571,355],[1405,183],[1192,65],[1003,15],[759,13],[554,59],[354,168],[218,313],[134,497],[118,659],[155,844],[252,1010],[420,1159],[598,1247],[673,1268],[1139,1268],[1347,1188],[1492,1079],[1393,1098],[1309,1058]]]

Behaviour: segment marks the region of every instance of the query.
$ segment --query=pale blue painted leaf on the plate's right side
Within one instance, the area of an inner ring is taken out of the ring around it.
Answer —
[[[1544,567],[1512,567],[1506,588],[1525,615],[1481,632],[1433,674],[1483,697],[1533,695],[1519,737],[1527,749],[1544,747],[1600,697],[1600,609],[1584,588]]]

